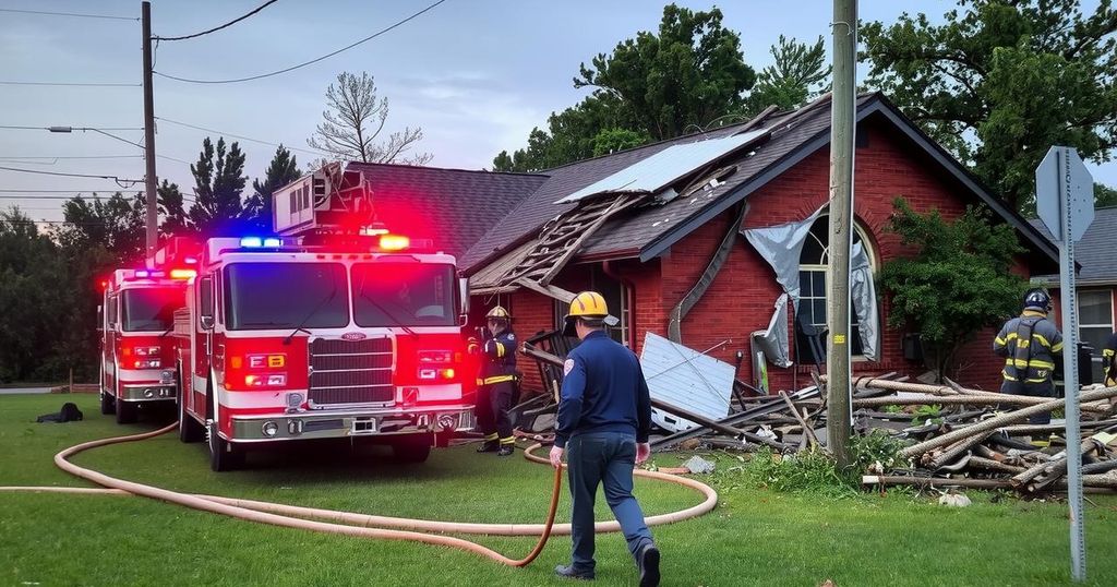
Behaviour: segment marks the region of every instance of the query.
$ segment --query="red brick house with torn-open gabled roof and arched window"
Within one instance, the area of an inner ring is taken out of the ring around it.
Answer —
[[[898,238],[885,230],[897,197],[917,211],[938,209],[948,219],[966,206],[985,206],[1018,231],[1027,248],[1018,264],[1023,275],[1057,271],[1051,243],[882,95],[860,96],[857,120],[855,240],[865,253],[866,275],[904,253]],[[648,332],[699,351],[710,349],[709,354],[729,363],[737,362],[739,351],[739,379],[757,380],[763,361],[770,389],[795,389],[810,382],[809,369],[821,359],[812,357],[809,343],[811,328],[825,323],[829,141],[830,101],[823,97],[798,111],[770,108],[742,124],[540,173],[419,168],[409,173],[416,174],[418,190],[422,177],[469,177],[471,186],[442,190],[457,195],[446,198],[468,201],[488,218],[494,208],[503,208],[503,218],[459,254],[470,276],[471,323],[480,324],[485,309],[500,303],[513,313],[519,338],[527,338],[561,323],[565,293],[592,287],[620,319],[614,338],[638,353]],[[375,180],[373,189],[379,210],[384,190]],[[497,200],[489,201],[494,192]],[[800,239],[775,255],[762,255],[742,236],[787,226],[800,228]],[[776,257],[791,258],[782,283],[772,264]],[[538,259],[543,267],[532,268]],[[773,319],[776,302],[792,292],[786,314]],[[875,357],[855,357],[855,373],[925,370],[920,361],[905,359],[905,332],[884,328],[888,311],[887,300],[865,310],[865,330],[877,325],[866,339]],[[755,354],[753,333],[772,332],[770,325],[786,329],[785,366],[767,364]],[[987,333],[962,353],[965,384],[999,385],[992,337]],[[521,368],[526,387],[540,389],[534,363],[521,358]]]

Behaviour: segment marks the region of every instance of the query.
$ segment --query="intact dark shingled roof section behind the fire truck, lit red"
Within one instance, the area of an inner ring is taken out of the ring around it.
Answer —
[[[378,218],[411,238],[430,238],[459,259],[546,176],[349,163],[370,180]],[[405,228],[395,228],[404,226]]]

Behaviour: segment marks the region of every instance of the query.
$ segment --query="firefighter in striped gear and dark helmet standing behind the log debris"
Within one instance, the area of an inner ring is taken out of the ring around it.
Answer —
[[[1024,295],[1023,313],[1001,328],[993,340],[993,351],[1004,357],[1001,391],[1021,396],[1054,397],[1054,356],[1062,352],[1062,334],[1048,320],[1051,296],[1043,290]],[[1032,416],[1031,424],[1050,424],[1051,414]],[[1035,438],[1033,444],[1042,444]]]

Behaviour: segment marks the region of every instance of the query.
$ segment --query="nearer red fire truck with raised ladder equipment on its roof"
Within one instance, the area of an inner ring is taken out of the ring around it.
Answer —
[[[422,462],[472,428],[466,282],[450,255],[353,229],[367,198],[326,169],[276,191],[280,236],[203,247],[174,315],[179,435],[207,438],[214,471],[258,443],[357,436]]]

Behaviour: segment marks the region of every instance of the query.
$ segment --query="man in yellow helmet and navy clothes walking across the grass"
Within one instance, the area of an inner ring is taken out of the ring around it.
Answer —
[[[551,464],[566,467],[571,494],[571,564],[561,577],[593,579],[593,501],[604,485],[605,502],[620,522],[636,559],[641,587],[659,585],[659,549],[632,496],[632,468],[651,453],[651,398],[636,354],[610,339],[605,300],[582,292],[570,304],[563,334],[582,343],[563,364],[563,382]]]

